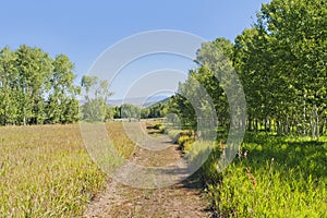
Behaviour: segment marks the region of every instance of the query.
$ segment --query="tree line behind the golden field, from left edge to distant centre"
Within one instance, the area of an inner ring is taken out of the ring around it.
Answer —
[[[161,117],[161,104],[150,108],[111,107],[108,81],[83,76],[74,84],[74,64],[64,55],[51,58],[40,48],[22,45],[0,50],[0,125],[107,121]],[[82,96],[81,96],[82,94]],[[83,101],[80,105],[80,101]]]

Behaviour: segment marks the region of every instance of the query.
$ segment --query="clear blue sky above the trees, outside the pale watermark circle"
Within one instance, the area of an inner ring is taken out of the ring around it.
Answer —
[[[268,0],[1,0],[0,47],[66,55],[86,74],[105,49],[145,31],[177,29],[233,40]],[[161,57],[162,58],[162,57]],[[190,61],[189,61],[190,63]],[[182,63],[187,68],[187,64]],[[183,68],[184,68],[183,66]],[[183,69],[180,69],[183,70]],[[113,90],[116,92],[116,90]],[[122,94],[117,93],[117,98]]]

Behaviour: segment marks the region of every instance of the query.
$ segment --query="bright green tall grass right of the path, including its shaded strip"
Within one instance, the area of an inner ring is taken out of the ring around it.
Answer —
[[[327,217],[327,137],[246,134],[241,152],[222,173],[217,158],[202,169],[217,216]]]

